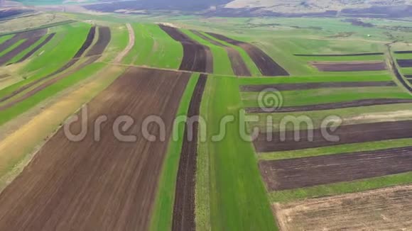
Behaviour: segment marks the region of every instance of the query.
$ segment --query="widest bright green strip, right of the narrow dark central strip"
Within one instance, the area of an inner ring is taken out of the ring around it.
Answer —
[[[199,159],[197,172],[209,171],[209,175],[208,181],[196,182],[195,213],[202,213],[205,219],[196,218],[197,230],[278,230],[256,164],[254,147],[239,137],[238,111],[242,103],[237,79],[209,77],[205,96],[208,97],[202,101],[200,116],[207,125],[200,127],[200,133],[205,132],[202,129],[207,130],[207,141],[200,140],[199,153],[200,156],[208,154],[209,160],[206,166],[207,163]],[[220,122],[227,115],[234,115],[235,121],[226,125],[222,140],[212,140],[213,135],[222,132]],[[200,195],[199,187],[209,188],[209,193]]]

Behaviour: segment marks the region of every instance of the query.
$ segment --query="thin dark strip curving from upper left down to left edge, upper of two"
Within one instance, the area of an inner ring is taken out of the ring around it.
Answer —
[[[22,86],[21,88],[17,89],[16,91],[13,91],[11,94],[9,94],[7,96],[4,96],[3,98],[0,98],[0,103],[8,100],[9,98],[11,98],[13,96],[16,96],[16,94],[19,94],[19,93],[25,91],[26,89],[31,88],[31,86],[34,86],[34,85],[40,83],[41,81],[44,81],[45,79],[49,79],[50,77],[53,77],[56,74],[60,74],[61,72],[64,72],[66,69],[69,69],[70,67],[72,67],[72,65],[74,65],[77,61],[79,61],[79,58],[76,58],[76,56],[79,55],[79,54],[82,55],[85,52],[85,49],[87,49],[87,47],[89,47],[89,45],[87,45],[87,44],[91,43],[90,42],[90,36],[91,36],[90,34],[93,34],[93,38],[94,38],[94,32],[92,33],[91,31],[92,31],[92,28],[90,28],[89,35],[87,35],[87,39],[85,40],[85,43],[83,43],[82,47],[80,47],[80,49],[77,51],[75,57],[72,60],[67,62],[65,65],[63,65],[63,67],[60,67],[55,72],[50,73],[47,76],[42,77],[40,79],[37,79],[36,81],[32,81],[31,83]]]

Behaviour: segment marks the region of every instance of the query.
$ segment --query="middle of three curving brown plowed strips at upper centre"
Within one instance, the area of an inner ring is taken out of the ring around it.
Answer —
[[[223,43],[219,43],[217,40],[213,40],[197,30],[191,30],[195,35],[199,36],[200,38],[209,41],[213,45],[217,45],[219,47],[224,47],[224,49],[227,52],[227,56],[229,57],[230,63],[232,64],[232,70],[233,73],[237,76],[240,77],[250,77],[251,73],[249,69],[246,66],[246,63],[244,63],[244,60],[242,59],[242,56],[239,54],[239,52],[234,49],[233,47],[229,47],[227,45],[224,45]]]

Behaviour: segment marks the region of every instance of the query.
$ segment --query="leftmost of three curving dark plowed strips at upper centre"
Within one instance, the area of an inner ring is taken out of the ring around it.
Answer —
[[[159,26],[171,38],[183,45],[183,60],[179,67],[180,70],[213,73],[213,56],[209,47],[189,38],[177,28]]]

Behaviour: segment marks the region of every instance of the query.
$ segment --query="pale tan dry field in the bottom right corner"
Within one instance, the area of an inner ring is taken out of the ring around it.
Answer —
[[[411,230],[412,186],[273,205],[283,231]]]

